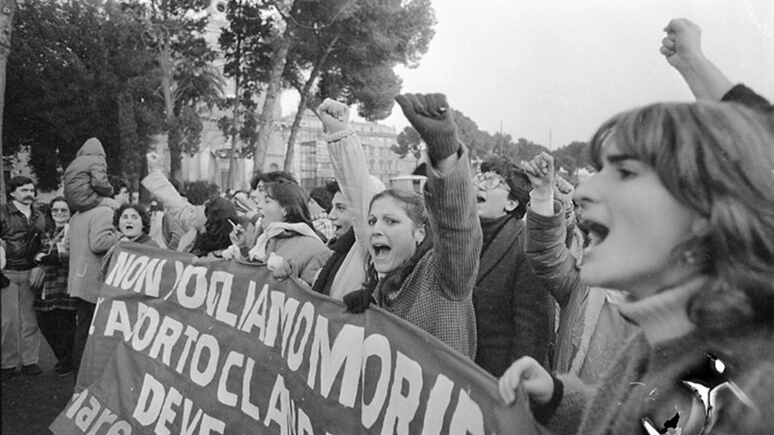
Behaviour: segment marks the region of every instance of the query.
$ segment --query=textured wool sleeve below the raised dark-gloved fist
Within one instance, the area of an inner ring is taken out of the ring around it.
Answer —
[[[435,282],[447,299],[469,298],[478,275],[483,236],[464,145],[460,144],[457,161],[445,173],[428,168],[425,205],[433,230]]]

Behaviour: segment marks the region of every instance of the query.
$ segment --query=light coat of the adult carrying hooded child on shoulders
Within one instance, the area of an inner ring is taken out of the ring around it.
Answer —
[[[102,289],[102,257],[122,237],[113,227],[116,208],[118,203],[114,199],[102,198],[97,207],[75,213],[70,219],[65,242],[70,247],[70,296],[97,303]]]

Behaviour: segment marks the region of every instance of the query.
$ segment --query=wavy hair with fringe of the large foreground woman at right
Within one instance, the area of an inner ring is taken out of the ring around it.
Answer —
[[[763,115],[729,103],[662,103],[619,114],[599,128],[606,143],[650,166],[664,187],[709,222],[675,249],[690,252],[709,284],[688,304],[701,330],[772,322],[774,312],[774,132]]]

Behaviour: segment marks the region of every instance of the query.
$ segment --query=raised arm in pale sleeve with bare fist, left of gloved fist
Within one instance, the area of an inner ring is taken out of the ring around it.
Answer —
[[[339,183],[341,194],[349,204],[355,239],[363,254],[368,252],[368,208],[371,199],[383,190],[368,173],[363,146],[360,138],[349,126],[349,107],[326,98],[318,108],[328,135],[328,152],[333,173]]]

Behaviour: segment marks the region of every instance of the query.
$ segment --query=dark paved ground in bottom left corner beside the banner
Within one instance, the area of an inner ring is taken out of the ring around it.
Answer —
[[[45,340],[40,345],[43,373],[25,376],[21,373],[2,385],[2,435],[49,435],[48,425],[64,409],[73,394],[75,376],[54,374],[56,358]]]

